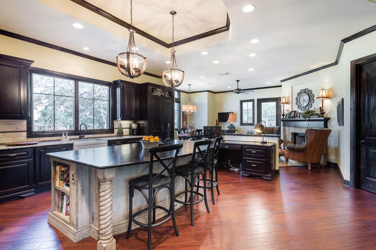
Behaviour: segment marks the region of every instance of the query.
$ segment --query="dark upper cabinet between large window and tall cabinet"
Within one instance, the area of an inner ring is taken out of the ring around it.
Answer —
[[[139,84],[114,81],[116,88],[116,120],[138,120],[140,114]]]

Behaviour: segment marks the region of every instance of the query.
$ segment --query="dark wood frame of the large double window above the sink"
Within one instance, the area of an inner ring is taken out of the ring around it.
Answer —
[[[27,106],[29,108],[29,114],[27,118],[27,138],[38,138],[38,137],[56,137],[56,136],[61,136],[62,130],[56,130],[55,132],[36,132],[33,131],[32,127],[32,120],[33,120],[33,94],[32,94],[32,89],[33,89],[33,82],[32,82],[32,75],[33,73],[36,74],[41,74],[41,75],[47,75],[47,76],[52,76],[52,77],[61,77],[65,79],[71,79],[74,81],[75,84],[75,92],[78,92],[78,82],[87,82],[87,83],[92,83],[92,84],[99,84],[99,85],[105,85],[109,87],[109,129],[91,129],[89,131],[86,131],[86,135],[96,135],[96,134],[111,134],[114,133],[114,112],[115,112],[115,99],[114,99],[114,83],[113,82],[106,82],[102,80],[97,80],[97,79],[92,79],[88,77],[83,77],[83,76],[76,76],[76,75],[71,75],[67,73],[62,73],[62,72],[56,72],[53,70],[47,70],[47,69],[40,69],[36,67],[30,67],[30,73],[29,73],[29,84],[28,84],[28,93],[27,96],[28,98],[28,103]],[[75,136],[79,135],[80,128],[79,128],[79,116],[78,116],[78,108],[79,108],[79,96],[75,95],[74,99],[74,112],[75,112],[75,131],[68,131],[68,135],[70,136]]]

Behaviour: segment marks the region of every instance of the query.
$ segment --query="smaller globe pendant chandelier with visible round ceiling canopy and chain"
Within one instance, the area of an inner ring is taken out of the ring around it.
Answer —
[[[171,59],[170,66],[168,69],[162,71],[162,79],[164,84],[167,87],[176,88],[183,83],[184,71],[177,68],[176,59],[175,59],[175,50],[174,50],[174,15],[176,11],[171,10],[170,14],[172,15],[172,50],[171,50]]]

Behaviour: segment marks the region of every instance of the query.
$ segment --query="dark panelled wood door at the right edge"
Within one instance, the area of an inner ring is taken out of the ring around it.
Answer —
[[[376,193],[376,58],[359,67],[359,188]]]

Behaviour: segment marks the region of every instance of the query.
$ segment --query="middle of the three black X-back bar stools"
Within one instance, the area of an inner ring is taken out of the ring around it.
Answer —
[[[175,195],[175,201],[184,204],[184,205],[190,205],[191,206],[191,225],[194,226],[193,222],[193,205],[198,204],[199,202],[205,201],[206,210],[208,213],[210,213],[209,206],[208,206],[208,200],[206,199],[206,164],[204,166],[200,166],[201,162],[206,162],[209,154],[209,148],[211,145],[211,140],[205,140],[205,141],[196,141],[193,145],[193,154],[192,154],[192,160],[190,164],[187,165],[180,165],[176,166],[175,175],[181,176],[185,179],[185,190]],[[206,146],[206,147],[205,147]],[[200,147],[205,147],[205,150],[203,150]],[[198,161],[197,163],[194,161],[196,158],[196,154],[199,154],[200,157],[202,157],[202,160]],[[204,189],[203,194],[197,191],[194,191],[194,185],[196,181],[199,179],[199,174],[203,174],[203,180],[204,180]],[[188,189],[188,184],[190,189]],[[180,201],[177,199],[180,195],[185,195],[185,200]],[[188,194],[190,194],[189,201],[188,201]],[[193,201],[193,195],[198,195],[200,198],[197,201]]]

